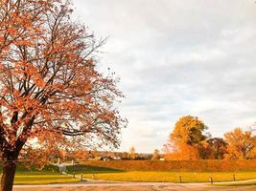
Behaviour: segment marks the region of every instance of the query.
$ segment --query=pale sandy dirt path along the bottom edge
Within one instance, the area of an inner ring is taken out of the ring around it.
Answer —
[[[256,191],[256,186],[215,187],[203,183],[69,183],[48,185],[15,185],[14,191]]]

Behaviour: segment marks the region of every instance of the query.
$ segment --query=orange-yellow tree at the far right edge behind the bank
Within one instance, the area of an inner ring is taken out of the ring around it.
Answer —
[[[225,159],[253,159],[255,155],[256,137],[251,131],[243,131],[242,128],[224,134],[228,143]]]

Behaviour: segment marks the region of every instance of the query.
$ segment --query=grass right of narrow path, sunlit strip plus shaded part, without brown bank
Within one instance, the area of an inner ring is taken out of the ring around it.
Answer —
[[[159,181],[159,182],[207,182],[209,177],[214,181],[233,181],[256,179],[256,172],[163,172],[163,171],[121,171],[111,168],[75,165],[68,166],[68,171],[83,174],[84,178],[114,181]]]

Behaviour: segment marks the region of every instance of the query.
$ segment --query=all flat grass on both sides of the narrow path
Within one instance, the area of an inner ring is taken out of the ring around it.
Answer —
[[[175,171],[124,171],[109,167],[99,167],[84,164],[67,166],[69,174],[75,172],[77,175],[83,174],[83,178],[110,181],[143,181],[143,182],[208,182],[211,177],[214,182],[251,180],[247,183],[254,185],[256,172],[175,172]],[[19,166],[15,175],[15,184],[45,184],[73,182],[80,179],[73,179],[71,176],[60,175],[58,167],[47,166],[42,171],[26,170]],[[243,182],[244,183],[244,182]],[[242,184],[242,182],[241,182]],[[237,185],[237,184],[236,184]]]

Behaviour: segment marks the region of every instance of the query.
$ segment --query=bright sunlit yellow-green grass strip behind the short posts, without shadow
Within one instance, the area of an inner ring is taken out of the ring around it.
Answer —
[[[159,182],[207,182],[209,177],[214,181],[232,181],[234,173],[193,173],[193,172],[120,172],[120,173],[95,173],[98,180],[114,181],[159,181]],[[84,174],[84,178],[91,179],[91,174]],[[237,180],[256,179],[255,172],[241,172],[236,174]]]

